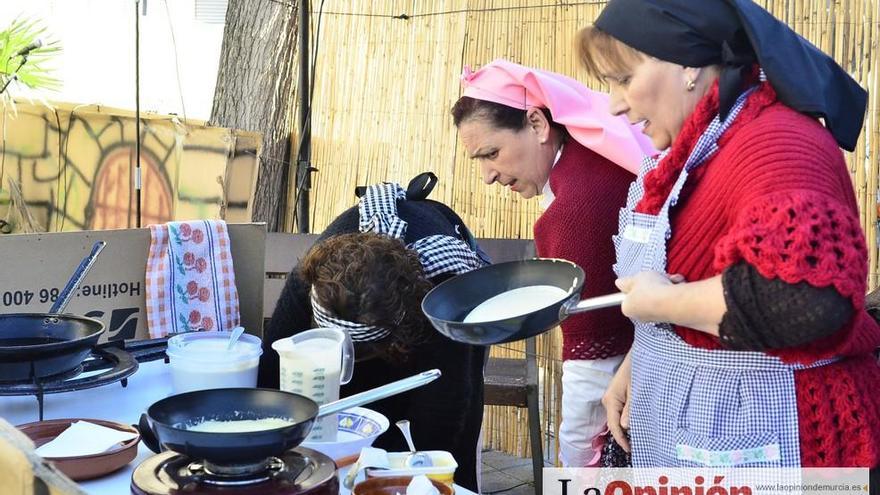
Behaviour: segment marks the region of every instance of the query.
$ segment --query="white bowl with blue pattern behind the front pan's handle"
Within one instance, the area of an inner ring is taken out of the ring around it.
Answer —
[[[388,418],[367,409],[352,407],[337,413],[339,431],[335,442],[303,442],[303,447],[315,449],[331,459],[342,459],[360,454],[361,449],[373,445],[376,438],[388,430]]]

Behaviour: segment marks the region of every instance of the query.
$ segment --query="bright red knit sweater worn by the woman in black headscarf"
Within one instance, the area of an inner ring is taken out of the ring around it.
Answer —
[[[717,86],[700,102],[673,149],[646,177],[642,211],[665,198],[681,160],[717,112]],[[787,362],[837,363],[795,372],[801,463],[805,467],[880,465],[880,329],[864,310],[867,250],[843,154],[816,120],[776,100],[769,84],[749,97],[719,151],[688,181],[673,209],[669,273],[688,280],[718,275],[740,260],[767,278],[835,287],[855,316],[829,338],[771,354]],[[650,180],[649,180],[650,179]],[[676,331],[694,346],[717,338]]]

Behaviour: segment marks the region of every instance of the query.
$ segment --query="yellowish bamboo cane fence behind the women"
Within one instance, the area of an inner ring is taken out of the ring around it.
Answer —
[[[504,57],[584,81],[573,49],[577,30],[606,1],[368,0],[313,1],[312,45],[318,46],[312,100],[312,231],[355,204],[354,187],[403,184],[423,171],[440,178],[432,198],[454,208],[478,237],[531,238],[538,202],[482,184],[457,141],[449,109],[465,65]],[[880,2],[758,0],[834,58],[870,93],[854,153],[847,153],[870,252],[870,287],[878,282],[878,80]],[[404,14],[404,15],[401,15]],[[320,20],[320,30],[318,22]],[[638,20],[634,20],[638,22]],[[315,37],[317,33],[317,37]],[[296,136],[293,136],[296,143]],[[291,188],[291,200],[296,191]],[[290,201],[288,204],[294,204]],[[292,210],[286,228],[293,230]],[[545,456],[555,462],[561,392],[561,338],[539,339]],[[493,355],[522,356],[517,344]],[[528,456],[525,409],[487,407],[484,446]]]

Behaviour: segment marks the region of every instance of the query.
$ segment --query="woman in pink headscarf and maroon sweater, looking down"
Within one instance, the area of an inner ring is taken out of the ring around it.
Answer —
[[[653,154],[629,122],[608,113],[608,98],[577,81],[507,60],[466,69],[452,109],[462,143],[483,181],[524,198],[543,196],[535,223],[538,256],[564,258],[586,273],[583,297],[617,292],[617,215],[642,158]],[[632,324],[619,308],[562,324],[563,466],[595,464],[605,428],[601,399],[629,350]]]

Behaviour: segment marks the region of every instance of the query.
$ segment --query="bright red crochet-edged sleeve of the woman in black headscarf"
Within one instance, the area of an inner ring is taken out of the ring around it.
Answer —
[[[744,260],[768,279],[833,287],[852,301],[853,318],[835,334],[772,354],[810,362],[870,352],[877,328],[863,318],[868,253],[843,154],[809,117],[781,106],[769,112],[766,124],[742,129],[727,144],[737,148],[730,165],[748,188],[733,200],[714,267],[721,272]]]

